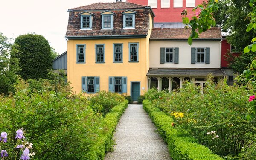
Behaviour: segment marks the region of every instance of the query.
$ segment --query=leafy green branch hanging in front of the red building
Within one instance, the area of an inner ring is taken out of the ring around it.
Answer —
[[[186,17],[187,11],[186,9],[181,12],[182,22],[186,25],[185,28],[191,27],[191,35],[188,38],[189,45],[192,44],[193,38],[198,38],[198,33],[202,33],[210,29],[211,26],[216,25],[216,21],[212,15],[212,12],[218,10],[218,0],[209,0],[208,3],[199,4],[192,12],[194,12],[193,17],[189,20]]]

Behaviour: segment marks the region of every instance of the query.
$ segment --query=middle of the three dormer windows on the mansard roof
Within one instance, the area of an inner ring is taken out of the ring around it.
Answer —
[[[102,29],[113,29],[115,13],[105,11],[100,14],[102,15]]]

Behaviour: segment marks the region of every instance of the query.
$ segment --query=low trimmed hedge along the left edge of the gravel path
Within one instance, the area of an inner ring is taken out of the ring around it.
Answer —
[[[102,136],[95,139],[94,145],[90,147],[90,151],[87,153],[86,160],[104,160],[105,153],[113,150],[113,134],[127,106],[128,100],[125,100],[125,102],[116,105],[106,114],[102,120]]]

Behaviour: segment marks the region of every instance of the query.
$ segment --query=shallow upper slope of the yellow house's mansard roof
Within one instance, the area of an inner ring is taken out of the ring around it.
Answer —
[[[93,3],[87,6],[76,7],[68,10],[108,10],[108,9],[137,9],[146,6],[129,2]]]

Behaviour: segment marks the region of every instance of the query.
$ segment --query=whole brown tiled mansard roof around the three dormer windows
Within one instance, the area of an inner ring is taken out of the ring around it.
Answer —
[[[111,10],[113,9],[113,10]],[[118,9],[118,10],[115,10]],[[90,11],[89,11],[90,10]],[[102,16],[100,13],[103,11],[114,12],[113,29],[102,29]],[[126,10],[134,10],[137,12],[135,15],[135,29],[123,29],[123,14]],[[93,13],[93,23],[91,30],[80,29],[82,12],[89,11]],[[74,8],[69,10],[69,20],[67,26],[66,36],[70,37],[96,37],[96,36],[126,36],[126,35],[148,35],[149,29],[149,14],[151,8],[145,8],[145,6],[137,5],[128,2],[119,3],[94,3],[88,6]]]

